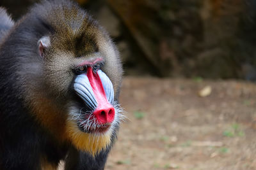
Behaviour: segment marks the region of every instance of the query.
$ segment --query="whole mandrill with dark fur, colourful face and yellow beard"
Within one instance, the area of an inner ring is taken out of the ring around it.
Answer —
[[[69,1],[0,8],[0,169],[104,169],[122,115],[108,34]]]

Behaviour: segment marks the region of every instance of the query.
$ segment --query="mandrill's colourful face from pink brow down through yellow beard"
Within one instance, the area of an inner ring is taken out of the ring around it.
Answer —
[[[111,143],[122,114],[113,83],[102,71],[104,59],[84,60],[74,70],[67,131],[74,145],[93,154]]]

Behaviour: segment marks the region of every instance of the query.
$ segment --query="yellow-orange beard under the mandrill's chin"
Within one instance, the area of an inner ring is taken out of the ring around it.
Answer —
[[[111,129],[104,134],[89,134],[78,129],[77,124],[67,120],[67,136],[78,150],[91,153],[95,156],[111,143]]]

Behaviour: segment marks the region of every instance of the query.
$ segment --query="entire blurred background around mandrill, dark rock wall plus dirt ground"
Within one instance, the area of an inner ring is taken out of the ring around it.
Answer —
[[[35,0],[1,0],[15,20]],[[256,169],[256,1],[77,0],[124,63],[106,169]]]

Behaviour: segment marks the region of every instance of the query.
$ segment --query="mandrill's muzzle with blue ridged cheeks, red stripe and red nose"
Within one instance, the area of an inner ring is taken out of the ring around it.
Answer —
[[[109,124],[115,118],[114,89],[108,76],[100,69],[88,67],[86,74],[79,74],[74,81],[76,94],[83,99],[97,124]],[[93,117],[92,117],[93,118]]]

